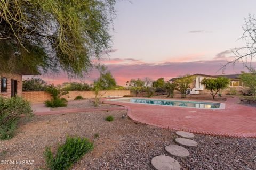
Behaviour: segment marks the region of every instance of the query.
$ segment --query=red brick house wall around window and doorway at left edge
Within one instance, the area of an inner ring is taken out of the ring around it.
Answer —
[[[11,97],[11,80],[12,79],[17,80],[17,96],[22,96],[22,75],[2,73],[0,77],[7,78],[7,92],[1,92],[1,86],[0,86],[0,96]]]

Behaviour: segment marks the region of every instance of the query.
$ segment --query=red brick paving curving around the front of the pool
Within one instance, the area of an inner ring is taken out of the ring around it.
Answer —
[[[222,102],[226,104],[222,110],[107,100],[105,103],[123,105],[133,120],[161,128],[229,137],[256,137],[256,108],[237,104],[238,101],[238,98],[227,98]]]

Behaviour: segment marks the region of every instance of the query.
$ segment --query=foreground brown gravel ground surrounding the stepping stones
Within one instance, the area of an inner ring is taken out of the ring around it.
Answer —
[[[0,141],[1,160],[34,160],[34,165],[0,165],[0,169],[44,167],[46,145],[65,141],[65,135],[79,135],[94,142],[94,150],[71,169],[153,169],[151,158],[168,155],[165,146],[174,143],[173,131],[122,119],[126,111],[95,111],[35,116],[23,121],[10,140]],[[113,115],[107,122],[105,116]],[[94,134],[99,133],[99,138]],[[223,138],[195,135],[197,148],[188,148],[190,157],[176,158],[182,169],[256,169],[255,138]]]

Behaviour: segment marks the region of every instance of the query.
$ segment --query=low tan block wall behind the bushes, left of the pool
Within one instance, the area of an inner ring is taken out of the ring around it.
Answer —
[[[106,91],[100,91],[99,94],[103,94]],[[120,96],[131,95],[130,90],[109,90],[102,97],[107,96]],[[51,95],[45,91],[23,91],[22,96],[31,103],[41,103],[45,100],[51,100]],[[67,100],[74,100],[76,96],[82,96],[85,99],[94,98],[94,91],[69,91],[65,96]]]

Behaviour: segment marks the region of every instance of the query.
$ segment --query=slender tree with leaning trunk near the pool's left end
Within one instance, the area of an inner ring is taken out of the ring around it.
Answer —
[[[114,89],[116,87],[116,81],[113,78],[111,72],[107,70],[106,65],[98,64],[96,68],[98,69],[100,75],[98,79],[95,79],[93,81],[93,91],[95,94],[95,97],[94,97],[95,107],[99,105],[99,101],[101,97],[105,95],[108,90]],[[100,90],[105,90],[105,92],[102,92],[100,94],[99,93]]]

